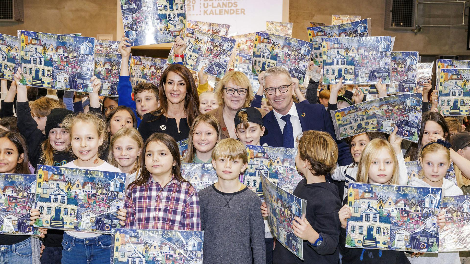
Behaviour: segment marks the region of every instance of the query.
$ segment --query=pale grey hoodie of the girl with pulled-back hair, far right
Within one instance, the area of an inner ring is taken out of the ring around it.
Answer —
[[[412,177],[408,185],[431,187],[431,185],[425,183],[423,180],[416,177]],[[462,190],[451,181],[444,179],[442,182],[442,196],[451,195],[462,195]],[[445,252],[445,253],[424,253],[423,256],[410,257],[408,254],[408,260],[411,264],[460,264],[459,252]]]

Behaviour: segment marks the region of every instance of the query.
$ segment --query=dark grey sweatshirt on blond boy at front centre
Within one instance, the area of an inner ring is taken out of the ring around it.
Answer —
[[[204,264],[266,263],[261,200],[248,187],[232,193],[211,186],[199,191]]]

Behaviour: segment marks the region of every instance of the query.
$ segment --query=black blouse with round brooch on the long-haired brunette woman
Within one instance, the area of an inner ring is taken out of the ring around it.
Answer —
[[[137,129],[141,133],[144,142],[153,133],[165,133],[172,136],[177,142],[187,139],[189,136],[188,119],[180,119],[180,129],[176,124],[176,119],[166,118],[164,115],[156,116],[152,113],[144,114],[143,120]]]

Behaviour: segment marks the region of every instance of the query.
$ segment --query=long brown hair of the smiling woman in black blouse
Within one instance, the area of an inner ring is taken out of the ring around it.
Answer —
[[[193,74],[189,72],[188,68],[181,64],[172,64],[168,66],[162,73],[162,78],[160,79],[160,88],[158,89],[158,97],[160,98],[160,106],[157,110],[151,112],[155,116],[165,115],[168,111],[168,102],[166,99],[164,84],[168,73],[174,72],[183,78],[186,83],[186,94],[187,96],[184,99],[184,111],[187,115],[188,126],[190,127],[193,124],[193,121],[201,113],[199,112],[199,96],[197,95],[197,87],[194,82]]]

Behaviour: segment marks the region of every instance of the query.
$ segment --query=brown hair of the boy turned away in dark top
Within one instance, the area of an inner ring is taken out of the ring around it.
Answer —
[[[304,131],[297,142],[299,157],[310,162],[312,168],[309,169],[314,176],[327,175],[335,167],[338,146],[327,132]]]

